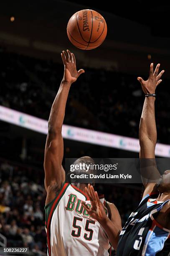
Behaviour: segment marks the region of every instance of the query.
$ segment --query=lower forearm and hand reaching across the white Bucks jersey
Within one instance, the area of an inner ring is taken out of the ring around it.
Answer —
[[[107,236],[109,238],[110,243],[112,244],[113,248],[116,250],[117,244],[119,241],[119,234],[121,230],[115,225],[115,223],[112,222],[107,217],[106,209],[104,208],[104,205],[99,200],[97,192],[94,191],[93,186],[88,184],[88,189],[85,188],[86,194],[89,196],[91,201],[91,208],[89,208],[86,205],[86,202],[82,201],[82,205],[86,209],[86,211],[89,213],[89,215],[97,220],[100,225],[104,228],[104,230],[107,233]],[[121,223],[118,223],[118,225]],[[122,226],[121,226],[122,227]]]

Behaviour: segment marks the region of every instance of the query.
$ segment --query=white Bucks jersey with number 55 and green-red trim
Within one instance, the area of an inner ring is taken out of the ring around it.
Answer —
[[[90,205],[83,191],[64,183],[56,198],[45,206],[48,256],[109,255],[107,234],[89,217],[81,200]]]

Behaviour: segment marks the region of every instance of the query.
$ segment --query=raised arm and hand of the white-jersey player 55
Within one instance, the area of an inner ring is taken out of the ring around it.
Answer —
[[[46,139],[44,170],[45,188],[47,191],[46,203],[53,200],[54,194],[61,188],[64,181],[63,160],[63,138],[61,135],[66,101],[71,84],[76,81],[83,69],[77,71],[76,59],[69,50],[61,53],[64,64],[64,75],[60,88],[53,102],[48,120],[48,135]]]

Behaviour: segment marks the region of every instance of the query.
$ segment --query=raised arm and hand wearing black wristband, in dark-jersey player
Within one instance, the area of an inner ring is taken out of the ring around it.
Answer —
[[[162,80],[160,79],[164,70],[158,74],[160,64],[157,64],[153,72],[153,63],[150,65],[150,74],[147,81],[138,77],[138,81],[142,85],[142,90],[145,93],[145,102],[143,105],[139,139],[140,139],[140,159],[141,159],[141,174],[143,184],[145,186],[144,196],[156,189],[157,179],[160,174],[155,163],[155,146],[157,142],[157,130],[155,123],[155,89]]]

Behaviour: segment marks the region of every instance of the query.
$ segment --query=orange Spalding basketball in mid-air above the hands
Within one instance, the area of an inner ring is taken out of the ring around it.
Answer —
[[[74,46],[91,50],[100,46],[107,35],[107,24],[100,13],[94,10],[80,10],[70,18],[67,35]]]

